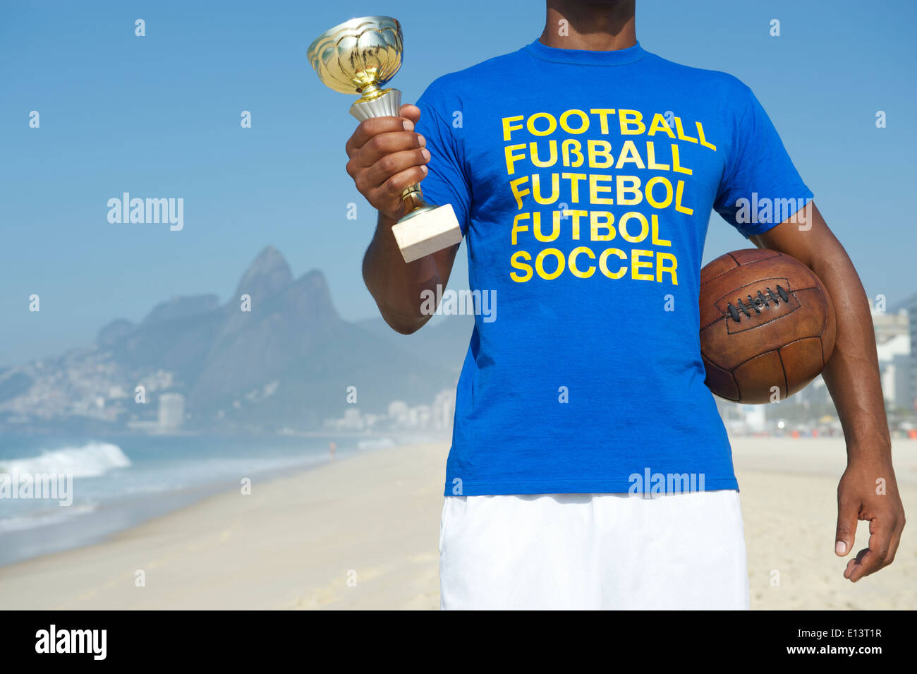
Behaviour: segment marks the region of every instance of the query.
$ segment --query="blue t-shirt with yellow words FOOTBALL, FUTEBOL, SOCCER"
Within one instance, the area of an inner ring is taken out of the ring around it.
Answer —
[[[452,204],[471,291],[494,302],[446,494],[737,489],[701,360],[707,224],[713,209],[753,236],[780,222],[757,204],[812,197],[754,94],[639,44],[536,40],[417,105],[425,199]]]

